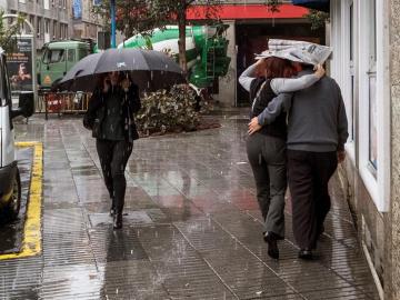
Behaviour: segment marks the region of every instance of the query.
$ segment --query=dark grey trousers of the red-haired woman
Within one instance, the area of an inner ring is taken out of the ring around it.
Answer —
[[[253,133],[247,140],[247,154],[256,179],[264,231],[284,237],[284,192],[287,189],[286,141]]]

